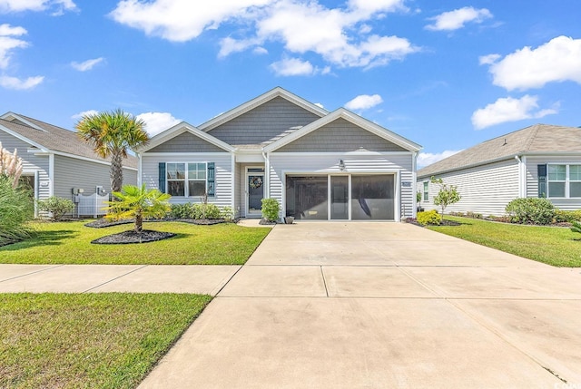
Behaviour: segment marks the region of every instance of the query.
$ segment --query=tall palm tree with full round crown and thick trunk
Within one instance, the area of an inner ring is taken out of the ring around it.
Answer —
[[[127,151],[149,141],[145,122],[117,109],[84,115],[74,126],[79,137],[93,145],[102,158],[111,157],[111,190],[120,191],[123,185],[123,158]]]

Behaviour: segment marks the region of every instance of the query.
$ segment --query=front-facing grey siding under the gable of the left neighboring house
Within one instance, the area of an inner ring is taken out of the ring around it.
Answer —
[[[16,149],[16,155],[23,160],[23,174],[33,175],[34,171],[38,171],[39,182],[36,182],[38,198],[47,199],[50,196],[50,177],[48,176],[50,160],[48,155],[34,155],[34,152],[28,152],[30,144],[5,133],[5,131],[0,131],[0,141],[2,147],[7,151],[14,152]]]

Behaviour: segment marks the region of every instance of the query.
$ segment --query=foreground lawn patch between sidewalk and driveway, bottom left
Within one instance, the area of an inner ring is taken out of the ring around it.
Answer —
[[[211,298],[0,295],[0,387],[136,387]]]

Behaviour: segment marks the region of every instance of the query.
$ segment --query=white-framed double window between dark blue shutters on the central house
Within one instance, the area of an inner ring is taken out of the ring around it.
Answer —
[[[172,196],[203,196],[207,192],[208,164],[206,162],[168,162],[166,177],[167,193]]]

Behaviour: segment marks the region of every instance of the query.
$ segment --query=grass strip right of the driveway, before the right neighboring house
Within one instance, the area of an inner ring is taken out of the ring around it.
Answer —
[[[581,267],[581,240],[570,229],[446,217],[460,226],[429,229],[556,267]]]

